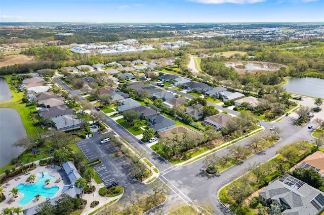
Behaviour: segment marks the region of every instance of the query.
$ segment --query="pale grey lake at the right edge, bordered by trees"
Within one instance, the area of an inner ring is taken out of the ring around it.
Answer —
[[[282,85],[287,92],[324,98],[324,80],[319,78],[290,78]]]

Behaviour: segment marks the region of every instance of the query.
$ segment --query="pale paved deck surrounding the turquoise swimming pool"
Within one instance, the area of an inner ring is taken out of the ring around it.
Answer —
[[[17,198],[13,198],[10,195],[10,191],[12,190],[12,188],[16,187],[18,184],[24,183],[26,185],[32,185],[30,182],[27,181],[27,178],[31,174],[37,175],[40,172],[48,172],[50,175],[52,175],[52,176],[55,177],[55,179],[53,181],[51,181],[49,185],[46,185],[46,187],[53,187],[53,186],[60,187],[59,191],[52,198],[55,198],[55,197],[61,195],[62,194],[61,191],[62,191],[64,185],[68,184],[68,182],[69,182],[69,180],[68,180],[65,172],[60,172],[59,171],[61,169],[62,169],[61,167],[54,166],[54,165],[52,166],[52,168],[51,167],[50,168],[46,168],[46,166],[41,167],[41,166],[37,165],[36,169],[29,171],[29,174],[28,175],[25,174],[25,175],[19,176],[20,179],[17,177],[15,179],[12,179],[9,182],[5,183],[2,187],[3,187],[4,191],[5,191],[4,192],[4,195],[6,195],[6,200],[0,203],[0,208],[22,207],[23,209],[27,209],[29,207],[35,206],[35,205],[37,205],[39,203],[42,203],[43,201],[46,201],[46,198],[43,197],[43,196],[41,196],[41,197],[39,197],[39,200],[38,201],[35,200],[35,199],[33,199],[29,203],[27,203],[25,205],[20,205],[20,204],[18,204],[18,202],[20,201],[20,199],[23,198],[24,194],[18,192],[18,195],[17,195],[18,197]],[[62,178],[62,176],[63,176],[63,178]],[[58,180],[59,178],[61,180],[59,180],[58,183],[55,183],[56,180]],[[11,202],[10,199],[13,199],[14,201]]]

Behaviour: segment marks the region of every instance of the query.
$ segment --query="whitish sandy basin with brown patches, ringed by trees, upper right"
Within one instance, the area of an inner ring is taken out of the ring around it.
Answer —
[[[233,67],[236,72],[240,75],[244,74],[246,71],[256,74],[265,71],[277,71],[281,67],[288,68],[288,66],[283,64],[269,63],[269,62],[258,62],[258,61],[244,61],[244,62],[227,62],[226,67]]]

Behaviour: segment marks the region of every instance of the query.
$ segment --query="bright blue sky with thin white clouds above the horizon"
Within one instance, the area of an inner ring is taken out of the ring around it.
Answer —
[[[1,0],[0,22],[318,22],[324,0]]]

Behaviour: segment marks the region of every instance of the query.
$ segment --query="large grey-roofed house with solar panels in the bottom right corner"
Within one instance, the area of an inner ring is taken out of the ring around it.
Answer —
[[[324,193],[289,174],[259,191],[259,199],[278,206],[282,214],[320,214],[324,209]]]

